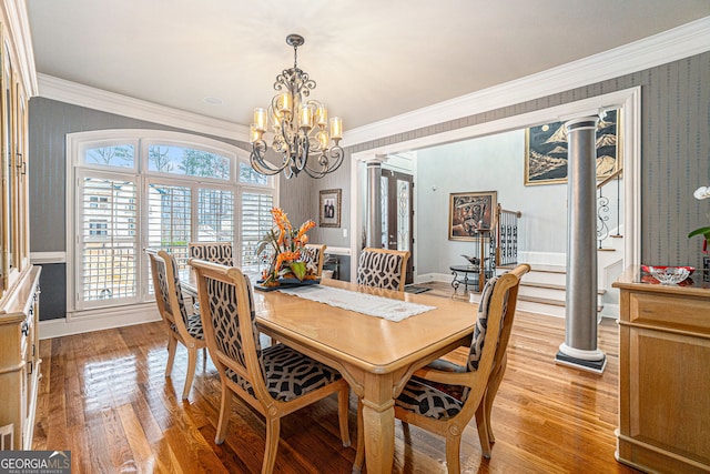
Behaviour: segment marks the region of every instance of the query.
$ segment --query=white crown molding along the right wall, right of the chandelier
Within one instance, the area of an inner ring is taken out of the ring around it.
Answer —
[[[710,50],[710,17],[619,48],[344,132],[342,147],[515,105]]]

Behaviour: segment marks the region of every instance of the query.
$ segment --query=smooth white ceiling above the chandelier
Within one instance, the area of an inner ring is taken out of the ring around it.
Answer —
[[[27,9],[38,72],[244,125],[293,65],[285,38],[300,33],[312,97],[347,130],[689,23],[710,14],[710,0],[28,0]]]

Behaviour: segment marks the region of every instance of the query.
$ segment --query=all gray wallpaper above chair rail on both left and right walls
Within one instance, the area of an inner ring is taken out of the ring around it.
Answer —
[[[293,221],[314,219],[317,222],[318,191],[342,189],[342,228],[316,228],[312,241],[348,246],[349,239],[343,236],[342,229],[352,230],[351,153],[641,85],[641,259],[656,264],[700,266],[700,239],[688,240],[686,235],[694,228],[710,224],[710,203],[692,198],[694,189],[710,185],[709,84],[710,52],[706,52],[529,102],[359,143],[345,150],[346,161],[333,175],[323,180],[282,179],[281,203]],[[42,98],[30,101],[29,120],[32,252],[65,250],[67,133],[115,128],[175,130]]]

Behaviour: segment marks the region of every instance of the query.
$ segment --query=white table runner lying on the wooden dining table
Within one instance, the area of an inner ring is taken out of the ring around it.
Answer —
[[[374,294],[358,293],[356,291],[325,285],[298,286],[278,291],[369,316],[384,317],[387,321],[394,322],[399,322],[415,314],[436,310],[436,306],[390,300],[384,296],[375,296]]]

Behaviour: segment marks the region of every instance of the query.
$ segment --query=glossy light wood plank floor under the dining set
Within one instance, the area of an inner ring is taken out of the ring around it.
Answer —
[[[452,297],[450,286],[433,294]],[[458,296],[464,297],[464,296]],[[473,307],[471,307],[473,317]],[[613,458],[618,417],[618,327],[605,320],[602,375],[556,365],[564,320],[518,312],[508,369],[493,410],[493,457],[480,455],[475,425],[463,436],[465,473],[635,473]],[[264,423],[235,399],[227,438],[214,444],[220,383],[199,363],[190,400],[180,400],[186,352],[173,375],[162,323],[41,341],[42,381],[36,450],[70,450],[73,473],[258,473]],[[464,357],[464,352],[454,357]],[[351,432],[356,440],[355,399]],[[349,473],[355,447],[343,447],[335,399],[283,420],[278,473]],[[415,426],[405,443],[396,422],[395,473],[445,473],[444,441]]]

